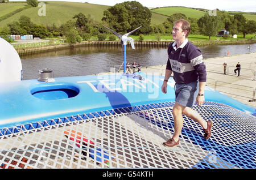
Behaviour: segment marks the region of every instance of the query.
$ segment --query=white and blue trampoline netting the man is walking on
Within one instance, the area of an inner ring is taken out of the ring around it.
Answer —
[[[204,140],[201,126],[184,116],[180,144],[168,148],[162,143],[174,133],[173,104],[113,109],[3,128],[0,166],[256,168],[254,116],[215,102],[194,106],[204,119],[213,121],[212,137]]]

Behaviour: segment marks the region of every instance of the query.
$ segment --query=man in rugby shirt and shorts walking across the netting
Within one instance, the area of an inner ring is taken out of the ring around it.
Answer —
[[[190,29],[187,20],[180,19],[174,22],[172,38],[175,42],[168,46],[168,61],[162,92],[167,93],[167,82],[172,72],[174,72],[176,83],[175,104],[172,109],[174,136],[163,143],[168,147],[179,144],[179,136],[183,127],[183,114],[203,127],[205,139],[209,139],[211,135],[212,121],[205,121],[199,113],[191,109],[195,103],[198,103],[199,106],[204,103],[207,73],[199,48],[187,39]]]

